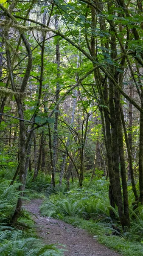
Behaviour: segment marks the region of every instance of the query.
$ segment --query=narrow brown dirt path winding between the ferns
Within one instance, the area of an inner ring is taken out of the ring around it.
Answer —
[[[68,251],[64,252],[64,256],[121,256],[98,244],[85,230],[64,221],[42,217],[39,212],[41,204],[41,199],[31,200],[30,203],[24,204],[24,208],[36,216],[33,217],[36,230],[45,244],[65,244]]]

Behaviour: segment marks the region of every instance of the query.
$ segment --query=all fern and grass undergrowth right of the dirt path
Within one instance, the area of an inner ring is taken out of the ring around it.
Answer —
[[[143,206],[132,210],[134,200],[129,185],[129,207],[131,227],[122,230],[117,209],[109,205],[108,181],[102,179],[84,181],[79,189],[73,184],[69,192],[56,192],[45,198],[41,206],[42,215],[60,218],[76,227],[88,230],[100,243],[118,250],[126,256],[143,256]],[[110,218],[109,210],[115,213]]]

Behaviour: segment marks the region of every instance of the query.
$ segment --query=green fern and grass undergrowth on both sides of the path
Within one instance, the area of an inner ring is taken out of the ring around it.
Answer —
[[[60,256],[62,250],[54,245],[45,245],[37,238],[34,221],[28,212],[22,209],[15,228],[10,227],[11,216],[14,213],[19,196],[17,181],[9,186],[6,180],[8,173],[0,173],[0,256]],[[11,175],[12,176],[12,175]],[[9,177],[11,177],[9,176]],[[59,218],[76,227],[90,232],[102,244],[117,250],[126,256],[143,256],[143,206],[132,209],[134,196],[132,186],[128,183],[131,227],[122,230],[117,209],[109,205],[109,182],[103,177],[92,182],[84,179],[82,189],[78,182],[70,185],[70,191],[63,183],[50,188],[50,176],[39,172],[33,181],[28,174],[25,198],[45,198],[41,206],[42,215]],[[137,184],[138,186],[138,184]],[[43,195],[45,194],[45,196]],[[110,218],[109,210],[115,213],[115,219]],[[117,228],[115,230],[115,228]],[[120,231],[120,232],[119,232]]]

